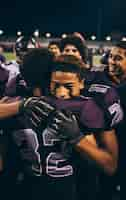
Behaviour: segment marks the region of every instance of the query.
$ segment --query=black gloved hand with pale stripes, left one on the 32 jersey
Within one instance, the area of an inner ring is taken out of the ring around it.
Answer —
[[[47,118],[55,108],[51,106],[43,97],[30,97],[22,100],[19,113],[23,113],[29,126],[33,130],[43,131],[47,125]]]

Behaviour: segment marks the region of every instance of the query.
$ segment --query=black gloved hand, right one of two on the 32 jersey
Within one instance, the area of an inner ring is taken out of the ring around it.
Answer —
[[[84,136],[80,131],[75,115],[66,111],[56,111],[52,120],[50,120],[48,129],[61,140],[68,141],[71,144],[77,144]]]

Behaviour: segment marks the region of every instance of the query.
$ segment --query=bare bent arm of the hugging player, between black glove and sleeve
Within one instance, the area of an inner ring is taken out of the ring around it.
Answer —
[[[76,143],[75,148],[94,160],[106,173],[112,175],[117,169],[118,162],[118,142],[115,131],[104,131],[99,134],[99,138],[102,147],[92,144],[86,137],[83,137]]]

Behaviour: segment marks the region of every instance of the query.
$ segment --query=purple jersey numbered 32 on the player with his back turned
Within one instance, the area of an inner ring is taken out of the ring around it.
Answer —
[[[105,129],[102,110],[92,98],[78,97],[73,100],[59,100],[45,97],[57,109],[70,110],[77,115],[82,134],[97,133]],[[46,174],[49,177],[73,175],[73,166],[62,152],[62,142],[46,128],[35,133],[28,127],[24,116],[17,116],[8,122],[12,138],[18,146],[21,159],[27,164],[25,170],[34,175]]]

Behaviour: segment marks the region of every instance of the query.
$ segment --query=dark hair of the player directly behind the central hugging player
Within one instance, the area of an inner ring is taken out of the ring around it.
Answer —
[[[78,49],[80,55],[82,56],[83,61],[86,63],[88,56],[88,49],[85,41],[83,41],[80,37],[76,35],[69,35],[60,41],[61,51],[63,51],[65,46],[69,44],[74,45]]]

